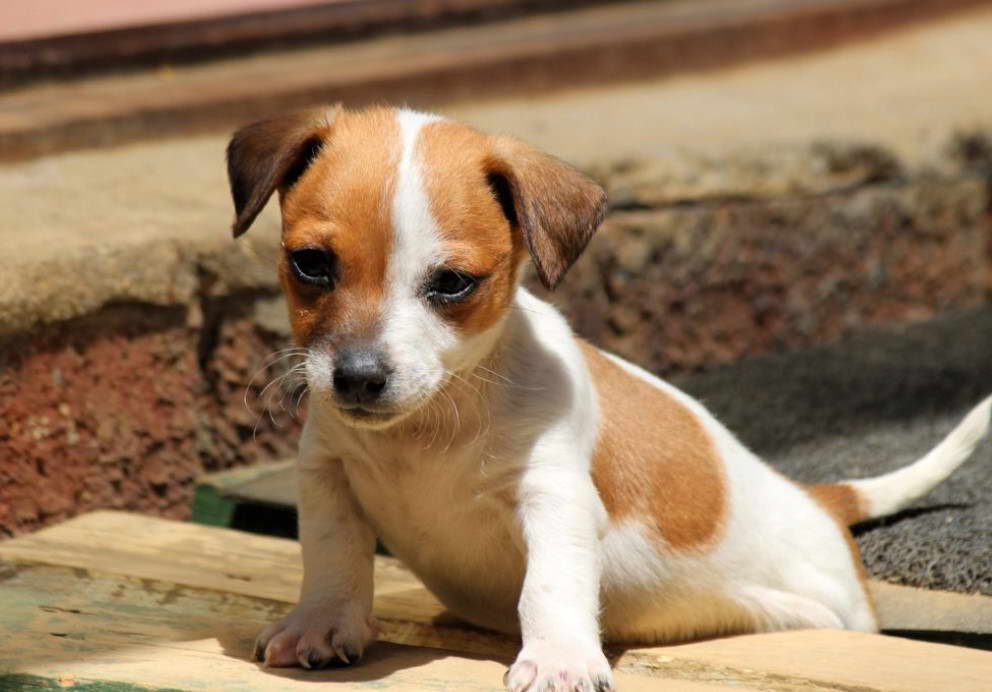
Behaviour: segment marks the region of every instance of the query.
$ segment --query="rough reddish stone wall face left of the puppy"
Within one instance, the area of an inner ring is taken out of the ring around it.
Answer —
[[[291,454],[299,425],[279,403],[296,392],[258,398],[288,368],[265,367],[286,340],[254,314],[265,304],[211,301],[195,326],[182,307],[112,305],[8,342],[0,535],[107,507],[185,517],[204,471]]]

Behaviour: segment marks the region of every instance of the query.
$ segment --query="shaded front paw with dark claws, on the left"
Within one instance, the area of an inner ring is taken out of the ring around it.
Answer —
[[[350,665],[376,637],[375,618],[346,606],[301,603],[255,640],[255,660],[266,666],[323,668]]]

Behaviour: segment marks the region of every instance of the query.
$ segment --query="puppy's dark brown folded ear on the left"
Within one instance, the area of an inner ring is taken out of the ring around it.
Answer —
[[[227,178],[234,198],[234,237],[248,230],[269,197],[300,179],[331,133],[341,106],[261,120],[234,133]]]

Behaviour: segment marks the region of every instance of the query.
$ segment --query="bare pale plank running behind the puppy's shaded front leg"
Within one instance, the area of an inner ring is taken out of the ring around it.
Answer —
[[[303,577],[294,541],[125,512],[94,512],[0,544],[0,559],[157,579],[181,586],[295,603]],[[444,607],[394,558],[376,557],[375,612],[395,643],[510,652],[505,637],[479,633]]]

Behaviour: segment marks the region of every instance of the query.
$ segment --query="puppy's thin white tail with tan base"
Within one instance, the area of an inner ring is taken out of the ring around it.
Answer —
[[[985,399],[923,458],[898,471],[864,480],[806,486],[818,502],[845,524],[899,511],[930,492],[960,466],[989,431],[992,396]]]

